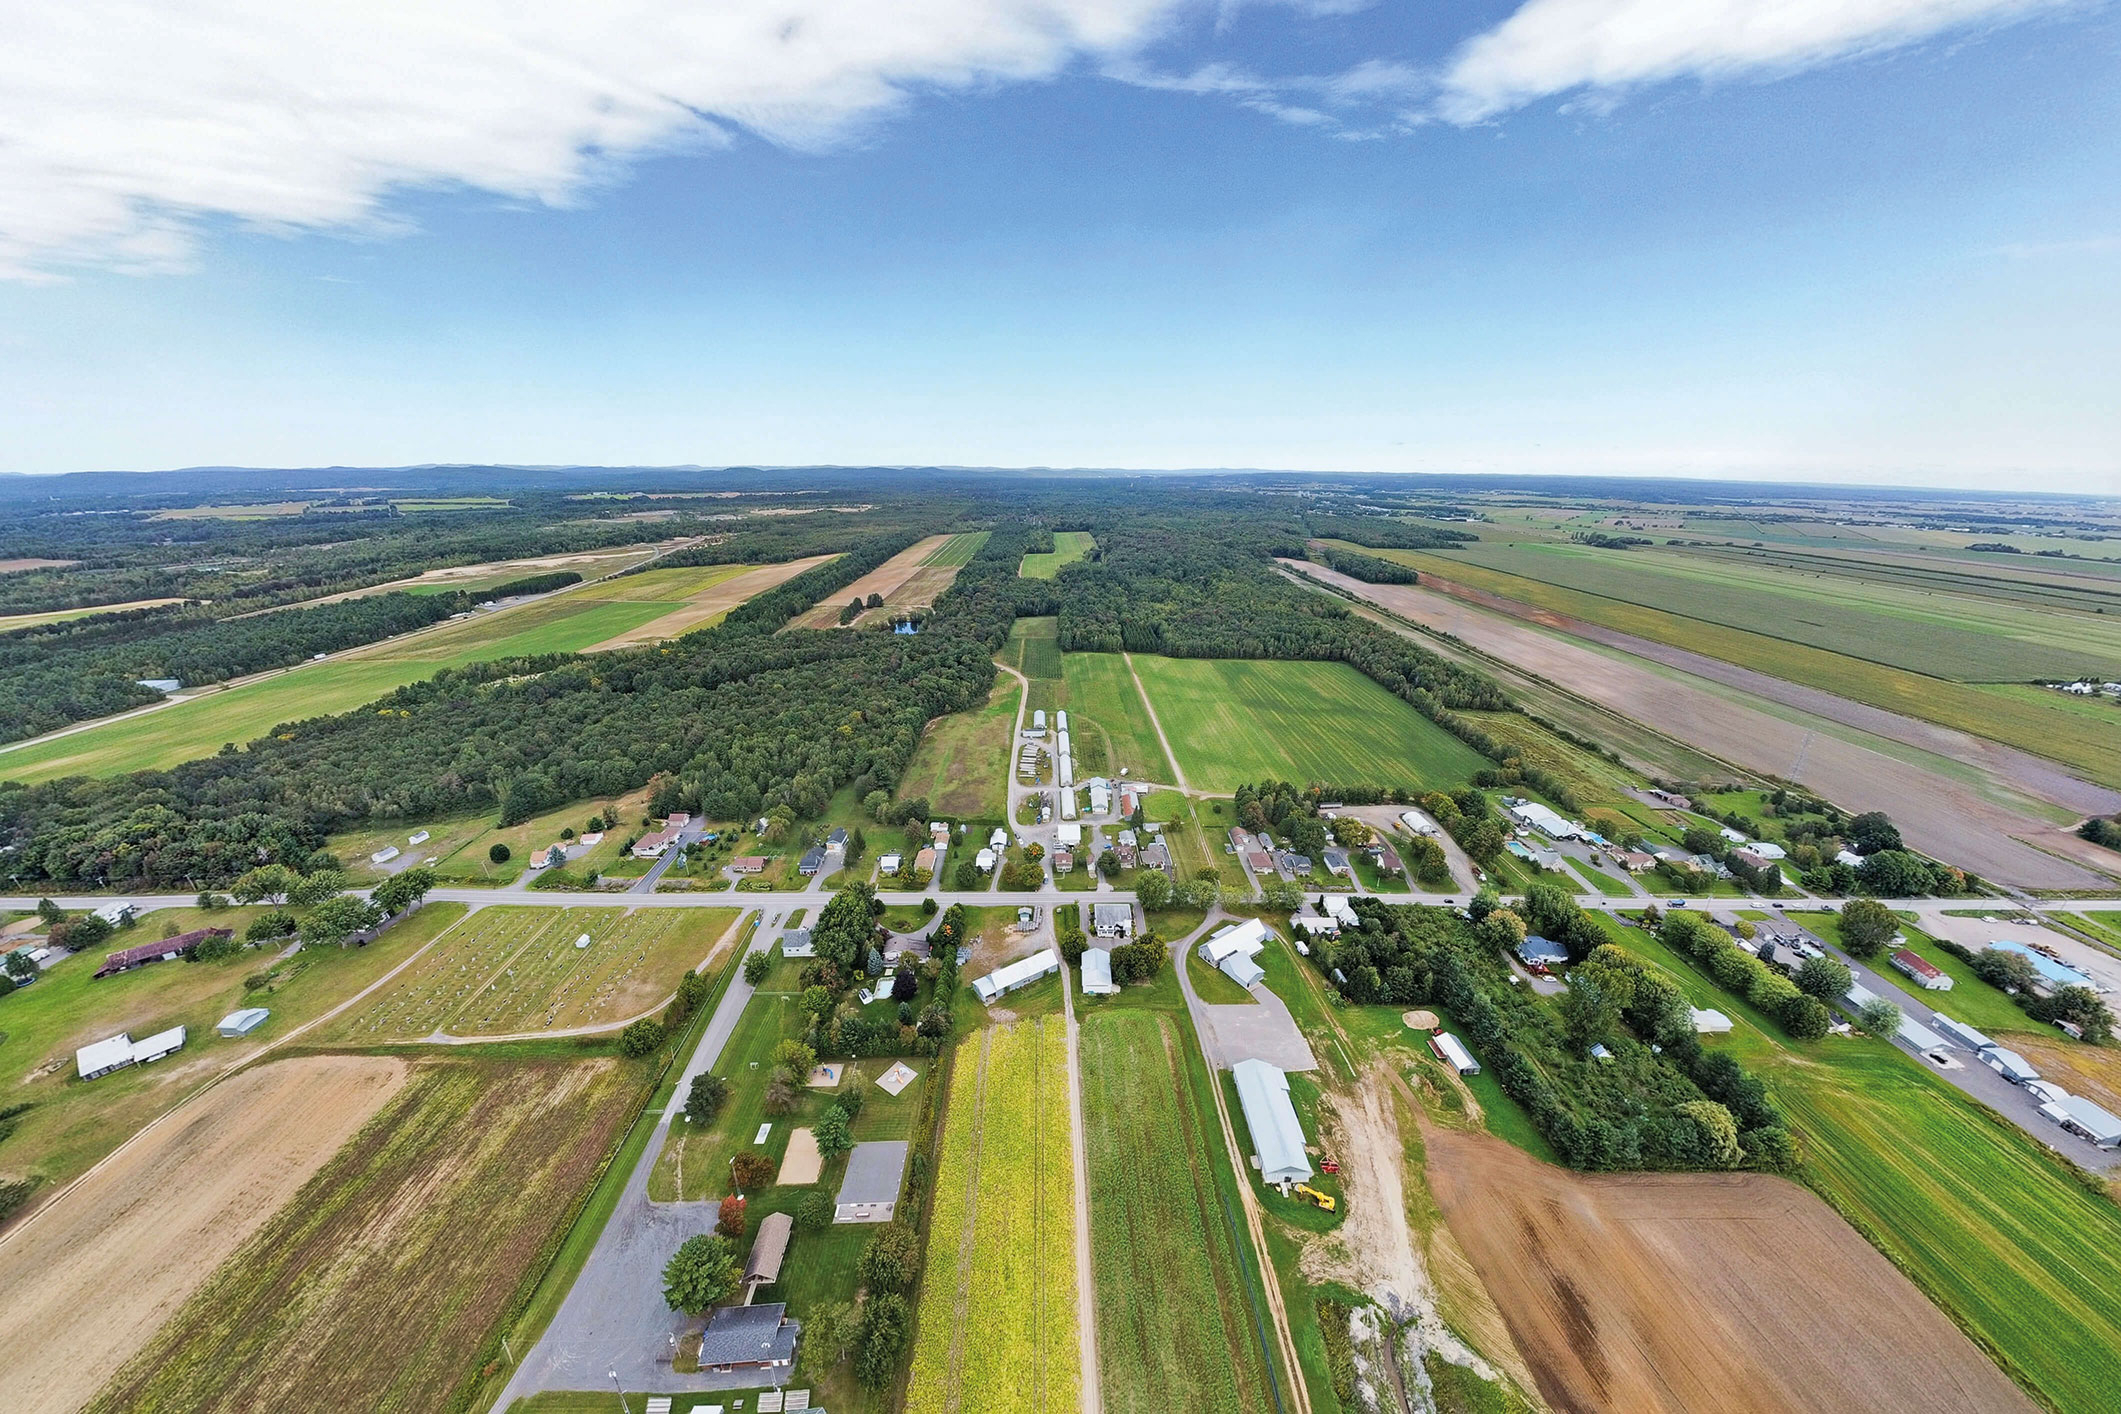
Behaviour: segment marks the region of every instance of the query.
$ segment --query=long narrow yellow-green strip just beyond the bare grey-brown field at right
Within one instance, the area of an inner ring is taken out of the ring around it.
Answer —
[[[1455,579],[1536,608],[1599,623],[1625,634],[1739,664],[1805,687],[1818,687],[1888,712],[1903,712],[1945,727],[1985,736],[2062,761],[2100,784],[2121,786],[2121,731],[2108,719],[2083,712],[2062,693],[1989,683],[1951,683],[1830,653],[1763,632],[1726,628],[1676,611],[1629,604],[1565,585],[1550,585],[1487,568],[1461,555],[1415,549],[1370,551],[1430,575]]]

